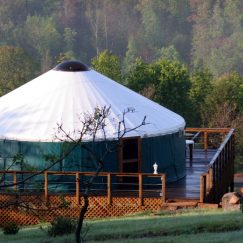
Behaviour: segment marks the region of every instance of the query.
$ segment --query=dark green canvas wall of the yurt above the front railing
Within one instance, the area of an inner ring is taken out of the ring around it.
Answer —
[[[116,151],[117,141],[87,143],[93,151],[101,157],[108,147],[111,151],[104,158],[105,172],[119,172],[118,156]],[[51,154],[60,158],[65,150],[62,143],[46,142],[19,142],[0,141],[0,168],[6,169],[12,163],[12,158],[21,153],[30,168],[40,170],[50,165],[45,161],[44,155]],[[167,181],[176,181],[185,176],[185,139],[179,133],[147,137],[142,139],[142,172],[153,173],[153,164],[158,164],[158,172],[166,173]],[[12,170],[20,170],[20,165],[15,165]],[[54,171],[94,171],[95,165],[92,156],[80,148],[62,162],[57,163],[51,170]]]

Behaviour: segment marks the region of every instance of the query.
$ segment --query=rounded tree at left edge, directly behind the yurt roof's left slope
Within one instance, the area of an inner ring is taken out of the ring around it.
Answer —
[[[33,59],[14,46],[0,47],[0,95],[4,95],[32,79],[37,71]]]

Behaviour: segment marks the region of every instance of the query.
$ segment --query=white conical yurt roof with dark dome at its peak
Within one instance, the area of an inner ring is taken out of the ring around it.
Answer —
[[[81,65],[81,66],[79,66]],[[81,63],[66,62],[0,98],[0,139],[58,141],[57,124],[67,133],[81,128],[80,118],[97,107],[110,106],[107,138],[116,138],[122,113],[127,128],[146,125],[126,136],[158,136],[183,129],[178,114],[139,95]],[[99,139],[103,135],[98,134]],[[85,140],[90,140],[87,135]]]

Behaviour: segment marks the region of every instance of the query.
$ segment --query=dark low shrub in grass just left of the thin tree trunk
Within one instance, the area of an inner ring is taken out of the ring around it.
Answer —
[[[47,233],[50,236],[59,236],[74,233],[76,230],[77,221],[67,217],[57,217],[51,222]]]

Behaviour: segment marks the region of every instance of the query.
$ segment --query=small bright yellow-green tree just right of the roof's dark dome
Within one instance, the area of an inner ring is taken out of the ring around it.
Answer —
[[[121,64],[117,56],[107,50],[100,52],[97,57],[91,60],[92,68],[105,76],[121,81]]]

